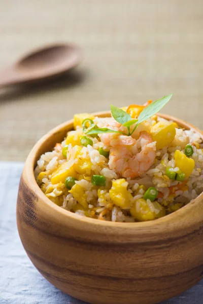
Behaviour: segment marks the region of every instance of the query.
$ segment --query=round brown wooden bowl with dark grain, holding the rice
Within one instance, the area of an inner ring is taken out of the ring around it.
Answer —
[[[96,113],[109,116],[109,112]],[[197,128],[170,116],[180,126]],[[17,224],[35,267],[54,286],[96,304],[152,304],[203,277],[203,195],[165,217],[119,223],[83,217],[52,203],[33,169],[73,128],[66,122],[38,141],[22,173]]]

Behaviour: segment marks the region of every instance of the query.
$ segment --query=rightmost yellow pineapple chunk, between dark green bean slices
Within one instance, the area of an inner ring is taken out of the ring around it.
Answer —
[[[185,173],[185,177],[189,177],[194,169],[195,162],[193,159],[188,158],[182,151],[176,150],[174,159],[176,162],[176,167],[178,167],[183,173]]]

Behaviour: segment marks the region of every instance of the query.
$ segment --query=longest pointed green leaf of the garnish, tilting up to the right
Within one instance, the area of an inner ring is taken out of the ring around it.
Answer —
[[[146,106],[142,112],[140,113],[139,117],[138,117],[138,123],[137,126],[144,122],[145,120],[147,120],[148,118],[150,118],[151,116],[155,115],[160,109],[162,109],[162,107],[168,102],[170,101],[170,99],[172,98],[173,94],[167,95],[162,97],[161,99],[158,99],[152,103],[150,103],[148,106]]]

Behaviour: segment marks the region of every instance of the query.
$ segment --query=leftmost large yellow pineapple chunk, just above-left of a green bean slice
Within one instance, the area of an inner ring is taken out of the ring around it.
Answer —
[[[59,183],[60,181],[64,183],[65,178],[68,176],[76,177],[76,171],[74,167],[69,168],[69,163],[65,162],[52,173],[51,183],[53,185]]]

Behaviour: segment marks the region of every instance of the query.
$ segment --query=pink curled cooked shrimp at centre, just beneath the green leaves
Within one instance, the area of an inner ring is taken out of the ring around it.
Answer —
[[[156,145],[151,143],[150,134],[142,131],[134,144],[113,146],[109,156],[110,169],[115,169],[117,174],[125,178],[134,178],[146,172],[156,157]]]

